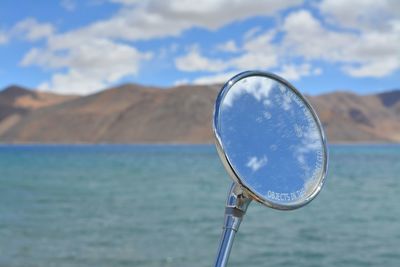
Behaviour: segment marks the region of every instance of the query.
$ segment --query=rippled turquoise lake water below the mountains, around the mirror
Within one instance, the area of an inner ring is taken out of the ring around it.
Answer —
[[[291,212],[252,203],[230,266],[400,266],[400,146],[333,146]],[[213,146],[0,146],[0,266],[212,266]]]

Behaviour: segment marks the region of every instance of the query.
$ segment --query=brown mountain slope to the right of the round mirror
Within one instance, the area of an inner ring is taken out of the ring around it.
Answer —
[[[392,94],[400,95],[400,91]],[[400,109],[389,108],[382,95],[335,92],[312,97],[310,101],[330,141],[400,142]],[[391,103],[393,107],[398,104],[400,98]]]

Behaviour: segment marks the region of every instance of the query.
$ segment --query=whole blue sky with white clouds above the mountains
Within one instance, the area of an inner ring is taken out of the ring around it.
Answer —
[[[400,87],[399,43],[394,0],[3,0],[0,88],[89,94],[258,69],[308,94],[367,94]]]

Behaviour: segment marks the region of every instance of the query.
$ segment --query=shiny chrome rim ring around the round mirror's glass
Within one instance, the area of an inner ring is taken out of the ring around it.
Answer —
[[[256,194],[254,192],[252,192],[249,189],[249,186],[247,185],[246,181],[244,181],[235,171],[235,169],[232,166],[231,161],[229,160],[229,156],[225,153],[225,149],[224,149],[224,145],[223,142],[221,140],[220,134],[218,132],[218,124],[219,124],[219,112],[220,112],[220,106],[221,106],[221,102],[224,99],[225,95],[227,94],[227,92],[229,91],[229,89],[238,81],[247,78],[247,77],[251,77],[251,76],[262,76],[264,78],[268,78],[268,79],[272,79],[276,82],[279,82],[283,85],[285,85],[286,87],[288,87],[290,90],[293,91],[293,93],[296,94],[296,96],[298,96],[303,103],[305,104],[305,106],[309,109],[310,113],[312,114],[317,127],[318,127],[318,131],[321,135],[322,138],[322,146],[323,146],[323,155],[324,155],[324,164],[323,164],[323,170],[322,170],[322,177],[319,179],[319,184],[318,186],[314,189],[314,191],[307,196],[305,199],[298,201],[296,203],[292,203],[292,204],[278,204],[275,202],[272,202],[271,200],[263,197],[262,195]],[[215,144],[217,147],[217,152],[218,155],[225,167],[225,169],[227,170],[229,176],[237,183],[239,184],[244,192],[251,198],[256,200],[257,202],[264,204],[270,208],[274,208],[274,209],[278,209],[278,210],[293,210],[293,209],[297,209],[300,208],[306,204],[308,204],[311,200],[313,200],[318,193],[321,191],[324,183],[325,183],[325,178],[327,175],[327,170],[328,170],[328,147],[327,147],[327,139],[326,139],[326,135],[325,132],[322,128],[322,124],[321,121],[319,120],[317,113],[315,112],[314,108],[311,106],[311,104],[308,102],[308,100],[293,86],[291,85],[288,81],[286,81],[285,79],[279,77],[278,75],[269,73],[269,72],[263,72],[263,71],[245,71],[242,73],[237,74],[236,76],[232,77],[228,82],[226,82],[222,88],[221,91],[219,92],[217,99],[215,101],[215,106],[214,106],[214,113],[213,113],[213,131],[214,131],[214,137],[215,137]]]

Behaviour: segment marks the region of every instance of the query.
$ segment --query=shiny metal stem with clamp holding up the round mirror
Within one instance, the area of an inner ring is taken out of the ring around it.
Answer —
[[[242,188],[233,183],[226,200],[225,220],[215,267],[225,267],[228,263],[235,234],[250,202],[251,199],[245,195]]]

